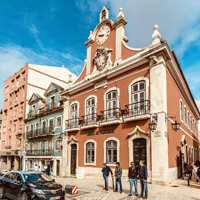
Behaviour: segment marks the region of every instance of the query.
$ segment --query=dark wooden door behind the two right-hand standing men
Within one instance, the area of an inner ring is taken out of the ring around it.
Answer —
[[[133,160],[137,168],[139,168],[140,160],[144,160],[147,165],[146,139],[133,140]]]

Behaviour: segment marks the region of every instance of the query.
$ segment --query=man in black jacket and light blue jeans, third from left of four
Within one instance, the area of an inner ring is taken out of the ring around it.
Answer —
[[[131,166],[129,167],[129,170],[128,170],[128,178],[129,178],[129,181],[130,181],[130,194],[129,194],[129,196],[133,195],[133,191],[132,191],[133,184],[135,186],[135,196],[138,196],[137,176],[138,176],[138,171],[135,168],[134,162],[131,162]]]

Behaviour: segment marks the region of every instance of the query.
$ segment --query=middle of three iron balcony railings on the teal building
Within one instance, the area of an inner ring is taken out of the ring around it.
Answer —
[[[26,139],[54,134],[54,126],[32,130],[26,133]]]

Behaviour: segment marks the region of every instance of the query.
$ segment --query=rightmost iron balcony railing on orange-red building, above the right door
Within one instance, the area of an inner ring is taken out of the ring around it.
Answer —
[[[131,103],[131,104],[125,105],[124,117],[129,118],[129,117],[145,115],[145,114],[149,114],[149,111],[150,111],[149,100]]]

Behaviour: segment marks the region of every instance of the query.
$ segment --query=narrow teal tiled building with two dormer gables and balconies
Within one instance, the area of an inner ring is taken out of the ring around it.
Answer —
[[[43,167],[50,163],[53,175],[60,175],[63,101],[59,92],[63,90],[51,83],[44,93],[45,99],[33,93],[29,100],[29,114],[25,119],[25,171],[34,169],[35,164],[43,171]]]

